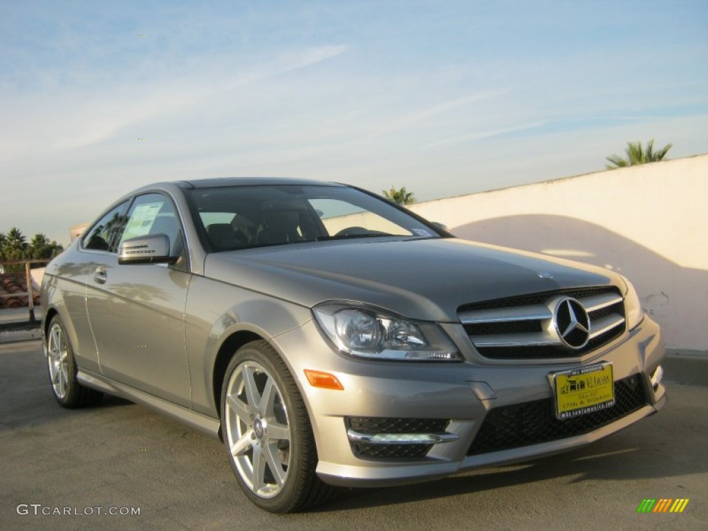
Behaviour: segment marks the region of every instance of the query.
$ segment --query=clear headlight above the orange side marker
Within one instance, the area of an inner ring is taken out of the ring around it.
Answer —
[[[358,358],[462,361],[440,325],[409,321],[379,309],[325,302],[313,313],[329,341]]]

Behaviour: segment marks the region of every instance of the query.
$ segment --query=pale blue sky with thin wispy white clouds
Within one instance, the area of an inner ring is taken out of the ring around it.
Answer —
[[[598,171],[630,140],[708,152],[705,0],[0,3],[0,232],[67,243],[154,181],[429,200]]]

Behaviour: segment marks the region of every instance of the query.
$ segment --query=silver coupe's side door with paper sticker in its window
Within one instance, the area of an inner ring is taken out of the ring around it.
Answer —
[[[89,321],[105,377],[190,405],[184,341],[184,309],[190,282],[183,230],[171,198],[138,195],[127,213],[120,241],[167,234],[173,265],[118,264],[103,253],[87,282]]]

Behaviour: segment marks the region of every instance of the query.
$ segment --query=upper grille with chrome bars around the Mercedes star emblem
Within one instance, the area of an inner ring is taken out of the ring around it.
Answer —
[[[590,339],[583,348],[564,346],[554,334],[553,304],[561,297],[588,313]],[[624,333],[624,300],[615,287],[590,287],[467,304],[457,310],[477,351],[497,360],[579,358]]]

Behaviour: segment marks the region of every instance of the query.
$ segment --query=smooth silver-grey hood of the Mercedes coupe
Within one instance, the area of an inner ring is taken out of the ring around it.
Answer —
[[[205,260],[205,275],[306,307],[375,304],[411,319],[457,321],[462,304],[613,284],[592,265],[459,239],[358,239],[291,244]]]

